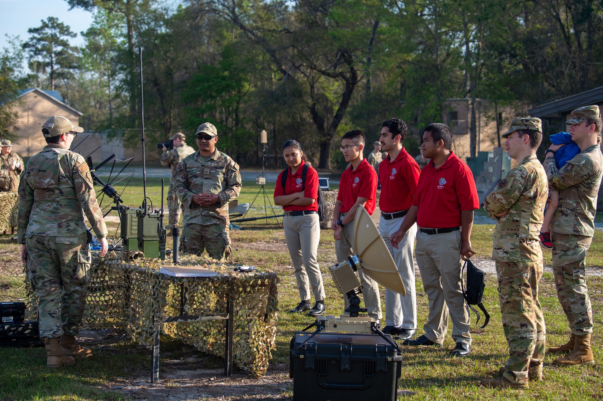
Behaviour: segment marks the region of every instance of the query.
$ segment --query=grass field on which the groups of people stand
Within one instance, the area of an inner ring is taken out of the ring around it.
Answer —
[[[148,179],[148,196],[153,199],[156,208],[160,202],[160,180]],[[142,201],[142,184],[133,182],[124,191],[126,205],[138,206]],[[239,197],[240,203],[251,203],[256,195],[258,185],[244,183]],[[267,185],[271,196],[274,184]],[[256,204],[257,204],[256,200]],[[263,206],[263,201],[262,201]],[[260,210],[250,211],[250,216],[263,214]],[[289,254],[286,252],[285,238],[282,229],[272,222],[242,223],[244,231],[232,231],[233,263],[253,264],[270,269],[280,276],[279,284],[279,324],[277,326],[277,349],[273,352],[269,374],[279,378],[281,383],[272,393],[255,393],[255,395],[229,396],[224,393],[224,399],[291,399],[292,382],[287,378],[289,364],[289,340],[293,333],[311,323],[311,318],[303,315],[291,315],[286,311],[294,307],[298,300],[295,276],[290,266]],[[110,228],[116,229],[117,223],[109,223]],[[493,225],[476,225],[473,228],[472,244],[478,256],[486,258],[491,253]],[[115,232],[115,231],[113,231]],[[0,300],[16,300],[23,296],[24,285],[20,263],[18,261],[19,247],[10,241],[10,236],[0,237]],[[168,241],[168,248],[171,243]],[[545,264],[550,264],[550,252],[545,252]],[[330,231],[321,232],[318,252],[321,270],[327,273],[327,267],[336,263],[334,240]],[[603,266],[603,233],[596,231],[593,245],[587,259],[589,266]],[[416,394],[405,399],[417,400],[584,400],[603,398],[603,348],[601,343],[601,323],[603,316],[599,308],[603,308],[603,278],[592,276],[588,278],[589,292],[593,303],[595,319],[595,335],[593,335],[593,351],[596,365],[590,367],[561,368],[552,365],[552,357],[545,359],[545,376],[543,382],[531,382],[529,390],[486,390],[478,383],[483,378],[494,376],[500,365],[508,357],[507,343],[500,322],[500,309],[496,291],[496,278],[488,276],[484,304],[491,314],[490,324],[485,329],[479,329],[472,323],[473,345],[468,358],[449,358],[446,352],[454,346],[450,335],[447,335],[444,349],[411,349],[402,347],[404,352],[402,379],[400,388],[414,391]],[[327,312],[343,311],[343,299],[336,292],[332,281],[325,279],[327,293]],[[385,311],[384,294],[382,308]],[[547,340],[549,344],[564,342],[569,334],[567,323],[557,300],[553,277],[545,273],[540,285],[540,302],[545,312],[547,325]],[[421,333],[423,322],[428,316],[428,299],[425,296],[420,278],[417,279],[417,312],[418,334]],[[472,316],[475,320],[475,315]],[[452,325],[452,323],[450,323]],[[449,333],[452,326],[449,327]],[[95,349],[95,356],[85,361],[58,370],[45,368],[45,353],[43,349],[0,349],[0,399],[2,400],[126,400],[126,399],[219,399],[219,395],[200,397],[194,392],[194,387],[183,388],[180,382],[171,379],[171,372],[177,363],[185,368],[220,367],[219,358],[208,357],[185,346],[178,340],[162,337],[162,366],[161,379],[164,388],[171,393],[165,397],[149,396],[147,391],[142,393],[127,393],[119,390],[119,384],[131,382],[139,377],[150,375],[150,352],[124,338],[119,332],[99,332],[96,339],[87,342]],[[256,388],[264,385],[261,380],[245,379]],[[207,382],[210,383],[210,382]],[[118,389],[112,390],[113,387]],[[208,388],[216,388],[209,386]],[[188,389],[188,390],[187,390]],[[177,393],[177,391],[181,391]],[[185,393],[182,393],[184,391]],[[179,394],[189,394],[182,396]],[[209,391],[209,390],[208,390]],[[259,390],[258,390],[259,391]],[[170,395],[171,394],[171,395]],[[262,395],[264,394],[264,395]]]

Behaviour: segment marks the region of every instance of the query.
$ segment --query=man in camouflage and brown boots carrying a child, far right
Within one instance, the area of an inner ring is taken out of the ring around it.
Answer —
[[[572,111],[569,125],[572,140],[581,152],[557,169],[554,152],[561,145],[546,151],[545,170],[549,188],[559,191],[559,206],[551,222],[555,286],[561,307],[572,334],[568,343],[549,348],[552,353],[569,353],[553,362],[564,365],[592,364],[590,335],[593,312],[586,285],[586,252],[595,232],[597,194],[601,185],[601,114],[596,105]]]

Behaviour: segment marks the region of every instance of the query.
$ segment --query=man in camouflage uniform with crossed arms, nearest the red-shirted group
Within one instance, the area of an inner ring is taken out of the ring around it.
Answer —
[[[529,134],[528,134],[529,132]],[[510,358],[502,378],[482,381],[489,387],[527,388],[528,377],[542,379],[545,320],[538,302],[542,250],[538,232],[544,219],[548,184],[535,152],[542,140],[541,121],[517,118],[502,136],[510,157],[519,162],[486,197],[484,209],[498,220],[492,258],[496,261],[502,326]]]

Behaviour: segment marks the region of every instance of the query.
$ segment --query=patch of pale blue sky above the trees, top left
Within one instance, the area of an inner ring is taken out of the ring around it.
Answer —
[[[80,32],[87,30],[92,23],[92,13],[80,9],[69,11],[65,0],[0,0],[2,24],[0,24],[0,48],[7,45],[4,34],[19,35],[27,40],[27,30],[40,26],[40,20],[47,17],[58,17],[77,37],[71,40],[72,45],[81,45]]]

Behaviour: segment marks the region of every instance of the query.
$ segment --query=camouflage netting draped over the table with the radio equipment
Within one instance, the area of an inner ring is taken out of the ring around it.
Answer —
[[[266,373],[276,349],[277,275],[274,272],[233,272],[233,266],[182,255],[178,264],[201,265],[218,272],[213,277],[171,277],[159,273],[162,261],[120,260],[112,252],[93,258],[82,328],[122,328],[133,340],[151,347],[157,330],[180,338],[196,349],[224,356],[224,320],[159,324],[163,317],[180,315],[181,283],[188,286],[188,314],[226,313],[233,302],[234,363],[258,378]],[[164,264],[166,264],[164,262]],[[29,290],[30,316],[35,316],[36,294]]]

